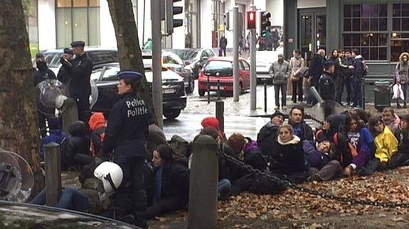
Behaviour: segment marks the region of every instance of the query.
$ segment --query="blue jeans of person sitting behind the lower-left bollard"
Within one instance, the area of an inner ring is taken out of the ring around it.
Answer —
[[[43,189],[31,203],[37,205],[46,204],[46,189]],[[78,189],[66,188],[63,189],[61,198],[55,207],[87,213],[90,208],[90,203],[88,202],[87,196],[81,191],[78,191]]]

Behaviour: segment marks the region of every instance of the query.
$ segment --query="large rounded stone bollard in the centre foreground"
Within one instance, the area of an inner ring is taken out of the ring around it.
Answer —
[[[218,146],[208,135],[193,144],[190,173],[188,228],[217,228]]]

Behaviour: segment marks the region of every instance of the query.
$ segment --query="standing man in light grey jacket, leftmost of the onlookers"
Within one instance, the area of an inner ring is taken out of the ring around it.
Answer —
[[[280,109],[280,90],[281,90],[281,105],[285,110],[287,106],[287,79],[291,72],[290,64],[284,60],[282,53],[278,54],[278,60],[270,66],[268,70],[272,77],[272,84],[274,85],[275,94],[275,109]]]

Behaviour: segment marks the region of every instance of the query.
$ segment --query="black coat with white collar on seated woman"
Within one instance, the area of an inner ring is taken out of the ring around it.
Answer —
[[[292,140],[282,143],[277,138],[270,155],[270,171],[277,174],[297,174],[304,172],[304,150],[302,141],[293,135]]]

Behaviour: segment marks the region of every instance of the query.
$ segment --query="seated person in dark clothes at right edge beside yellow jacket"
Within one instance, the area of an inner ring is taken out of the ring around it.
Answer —
[[[398,140],[398,152],[392,155],[389,167],[395,169],[409,165],[409,115],[400,118],[400,140]]]

